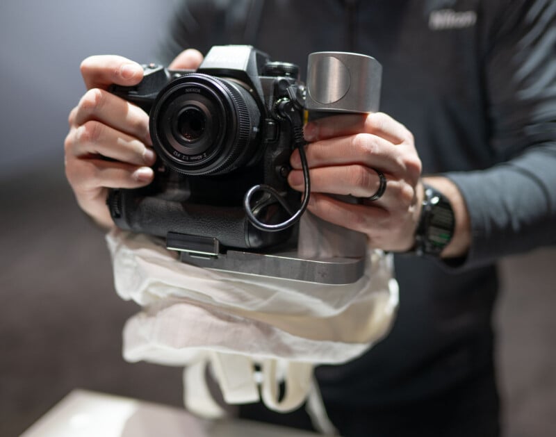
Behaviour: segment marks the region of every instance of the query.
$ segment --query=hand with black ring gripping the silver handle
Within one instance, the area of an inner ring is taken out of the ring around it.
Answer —
[[[368,236],[370,247],[403,252],[414,245],[423,199],[421,162],[411,132],[384,113],[334,115],[305,126],[313,214]],[[303,191],[299,151],[291,156],[291,187]],[[325,193],[371,197],[386,176],[386,191],[375,201],[348,204]]]

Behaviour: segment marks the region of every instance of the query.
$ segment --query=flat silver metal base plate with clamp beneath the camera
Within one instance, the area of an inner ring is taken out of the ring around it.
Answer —
[[[220,253],[216,238],[169,232],[168,249],[181,253],[181,261],[197,267],[293,281],[343,285],[357,282],[365,270],[365,258],[303,258],[295,250],[261,254],[228,249]]]

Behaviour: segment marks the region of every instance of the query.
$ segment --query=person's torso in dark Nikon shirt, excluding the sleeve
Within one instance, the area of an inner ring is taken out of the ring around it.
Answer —
[[[273,60],[297,63],[302,76],[313,51],[375,57],[383,67],[380,109],[414,134],[424,174],[482,169],[498,159],[489,144],[480,0],[189,5],[199,28],[186,40],[202,51],[215,44],[253,44]],[[391,333],[352,363],[320,368],[325,399],[418,399],[490,363],[494,267],[454,274],[434,261],[398,256],[395,270],[400,308]]]

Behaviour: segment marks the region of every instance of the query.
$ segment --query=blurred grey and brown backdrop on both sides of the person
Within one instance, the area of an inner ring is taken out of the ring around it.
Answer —
[[[121,358],[122,326],[138,307],[115,295],[104,235],[74,203],[63,166],[81,60],[158,60],[173,5],[1,0],[0,436],[17,436],[77,387],[181,405],[181,370]],[[500,270],[505,435],[556,435],[556,249]]]

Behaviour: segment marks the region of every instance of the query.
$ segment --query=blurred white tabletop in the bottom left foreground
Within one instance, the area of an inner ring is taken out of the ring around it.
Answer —
[[[183,409],[76,389],[21,437],[314,437],[246,420],[201,420]]]

